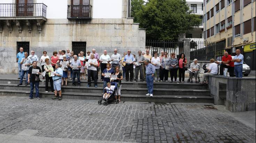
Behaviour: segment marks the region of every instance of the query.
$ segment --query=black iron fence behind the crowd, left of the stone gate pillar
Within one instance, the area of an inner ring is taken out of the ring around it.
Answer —
[[[146,49],[149,50],[149,53],[154,56],[154,53],[157,52],[158,56],[161,55],[161,51],[170,53],[176,53],[179,55],[183,53],[184,42],[179,41],[159,41],[159,40],[146,40]]]

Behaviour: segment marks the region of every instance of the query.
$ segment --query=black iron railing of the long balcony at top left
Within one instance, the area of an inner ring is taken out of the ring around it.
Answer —
[[[1,3],[0,17],[45,17],[44,3]]]

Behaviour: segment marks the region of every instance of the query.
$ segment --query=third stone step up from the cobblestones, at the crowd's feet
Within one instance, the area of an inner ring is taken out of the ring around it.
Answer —
[[[0,83],[9,83],[9,84],[18,84],[20,80],[17,79],[1,79]],[[25,84],[25,80],[23,80],[23,84]],[[50,83],[49,83],[50,84]],[[40,85],[45,85],[45,81],[41,81]],[[77,81],[75,82],[77,86]],[[80,85],[82,87],[87,86],[87,80],[81,80]],[[68,86],[72,86],[72,80],[68,80]],[[94,83],[92,82],[92,86]],[[103,87],[103,81],[98,81],[98,86]],[[129,88],[147,88],[147,84],[145,82],[126,82],[122,81],[122,87],[129,87]],[[169,82],[155,82],[154,88],[171,88],[171,89],[207,89],[206,85],[198,84],[198,83],[169,83]]]

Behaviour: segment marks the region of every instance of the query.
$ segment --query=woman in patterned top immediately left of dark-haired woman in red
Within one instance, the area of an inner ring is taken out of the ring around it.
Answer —
[[[169,65],[170,65],[170,75],[171,75],[171,81],[173,82],[173,77],[174,77],[174,82],[177,83],[177,72],[178,72],[178,60],[175,53],[170,54],[171,58],[169,59]]]

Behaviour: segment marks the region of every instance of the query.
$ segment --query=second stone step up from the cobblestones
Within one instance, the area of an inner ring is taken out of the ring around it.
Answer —
[[[0,83],[0,89],[7,90],[26,90],[30,91],[30,86],[17,86],[17,84],[8,84],[8,83]],[[102,93],[103,87],[94,88],[91,86],[89,88],[82,87],[65,87],[63,86],[61,89],[63,92],[73,92],[73,93]],[[39,91],[45,91],[45,85],[39,85]],[[129,95],[144,95],[147,93],[147,88],[131,88],[123,86],[121,88],[121,93],[129,94]],[[172,89],[172,88],[154,88],[154,95],[187,95],[187,96],[210,96],[210,91],[207,89]]]

